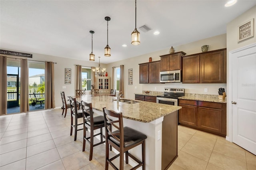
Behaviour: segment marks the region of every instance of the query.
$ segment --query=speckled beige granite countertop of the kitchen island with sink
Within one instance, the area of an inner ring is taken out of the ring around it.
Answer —
[[[134,121],[139,121],[143,123],[152,122],[160,117],[168,115],[174,111],[181,109],[180,106],[165,105],[160,103],[152,103],[147,101],[138,101],[138,103],[128,104],[128,103],[117,103],[112,101],[116,97],[112,96],[93,96],[84,95],[77,96],[77,101],[86,101],[92,103],[92,108],[103,112],[103,107],[106,109],[113,110],[116,112],[122,112],[123,117],[126,119],[131,119]],[[131,100],[136,101],[136,100]]]

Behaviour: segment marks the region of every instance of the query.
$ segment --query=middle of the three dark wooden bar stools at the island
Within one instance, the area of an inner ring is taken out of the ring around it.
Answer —
[[[84,101],[81,101],[82,105],[82,111],[83,111],[83,121],[84,121],[84,140],[83,140],[83,151],[85,150],[85,143],[86,140],[90,143],[90,157],[89,160],[92,160],[92,153],[93,153],[93,147],[98,146],[99,144],[105,143],[105,140],[103,141],[103,138],[105,136],[102,134],[102,128],[105,127],[104,124],[104,117],[103,116],[97,116],[93,117],[92,112],[92,103],[86,103]],[[89,109],[85,109],[85,107],[89,107]],[[86,137],[86,130],[90,129],[90,137]],[[94,130],[100,129],[100,132],[97,134],[94,134]],[[95,136],[100,135],[100,142],[94,144],[93,139]]]

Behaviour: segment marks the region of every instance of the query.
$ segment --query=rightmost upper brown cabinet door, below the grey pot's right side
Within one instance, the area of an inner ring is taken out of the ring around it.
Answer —
[[[224,83],[223,51],[200,55],[200,83]]]

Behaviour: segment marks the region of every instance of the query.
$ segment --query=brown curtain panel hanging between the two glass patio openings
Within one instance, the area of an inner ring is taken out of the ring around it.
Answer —
[[[20,59],[20,113],[29,111],[28,59]]]

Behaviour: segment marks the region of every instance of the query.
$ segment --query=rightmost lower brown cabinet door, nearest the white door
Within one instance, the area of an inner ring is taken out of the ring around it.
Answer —
[[[222,132],[222,110],[207,107],[198,108],[198,128]]]

